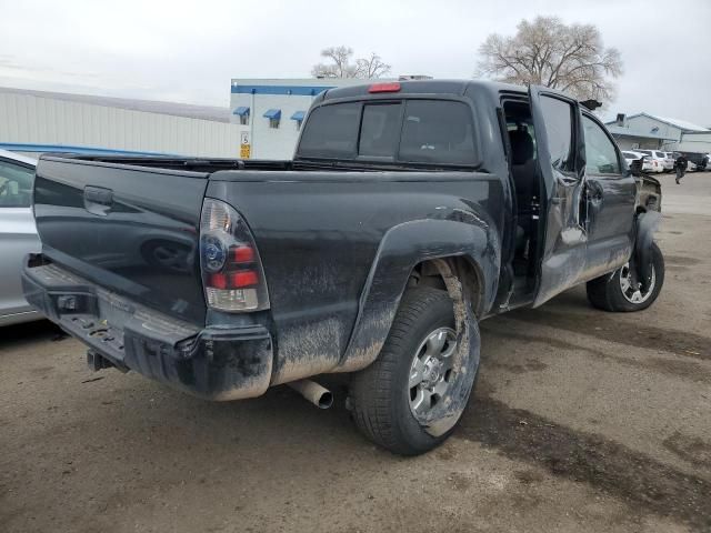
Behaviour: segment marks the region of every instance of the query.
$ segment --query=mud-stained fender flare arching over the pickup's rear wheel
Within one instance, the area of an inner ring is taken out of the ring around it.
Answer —
[[[382,239],[361,294],[348,346],[333,372],[353,372],[380,353],[412,269],[422,261],[461,257],[477,272],[481,293],[477,314],[494,300],[501,244],[491,224],[469,212],[458,221],[417,220],[390,229]]]

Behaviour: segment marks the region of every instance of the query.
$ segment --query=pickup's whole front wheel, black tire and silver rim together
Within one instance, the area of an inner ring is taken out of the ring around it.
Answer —
[[[664,283],[664,258],[655,242],[652,242],[650,278],[642,288],[637,281],[630,263],[611,274],[588,282],[588,300],[604,311],[633,312],[649,308],[662,290]]]

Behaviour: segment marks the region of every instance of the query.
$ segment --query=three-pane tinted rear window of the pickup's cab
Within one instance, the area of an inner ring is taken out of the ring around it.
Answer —
[[[443,100],[327,104],[309,114],[298,155],[473,164],[471,114],[465,103]]]

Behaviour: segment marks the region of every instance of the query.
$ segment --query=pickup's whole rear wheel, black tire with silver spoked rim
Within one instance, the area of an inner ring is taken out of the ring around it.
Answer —
[[[463,329],[457,332],[445,291],[404,293],[378,360],[352,378],[353,415],[367,438],[401,455],[424,453],[447,440],[479,366],[475,321]]]

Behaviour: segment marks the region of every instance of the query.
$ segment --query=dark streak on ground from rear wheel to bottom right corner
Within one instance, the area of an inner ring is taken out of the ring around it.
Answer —
[[[711,482],[603,435],[574,431],[491,398],[477,398],[455,433],[552,475],[588,483],[630,507],[711,529]]]

